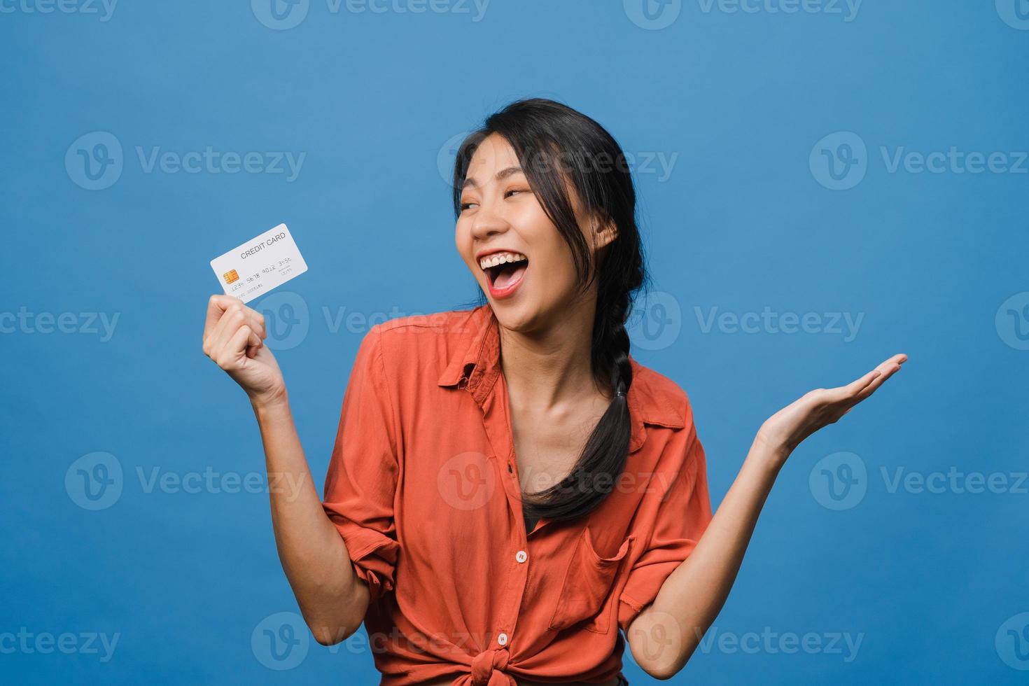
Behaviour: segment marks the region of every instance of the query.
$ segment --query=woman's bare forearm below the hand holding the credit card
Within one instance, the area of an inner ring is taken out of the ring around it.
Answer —
[[[360,626],[367,588],[354,574],[347,546],[322,507],[288,399],[254,402],[253,409],[264,443],[282,569],[318,642],[339,643]]]

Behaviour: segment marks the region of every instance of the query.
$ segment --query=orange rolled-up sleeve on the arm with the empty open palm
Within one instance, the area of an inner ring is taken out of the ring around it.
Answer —
[[[690,425],[680,467],[664,490],[658,506],[653,535],[647,549],[629,572],[618,603],[618,625],[628,634],[633,619],[649,605],[662,584],[693,552],[711,521],[707,462],[704,448]]]

